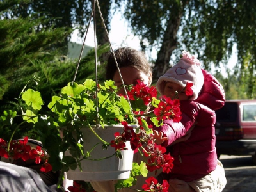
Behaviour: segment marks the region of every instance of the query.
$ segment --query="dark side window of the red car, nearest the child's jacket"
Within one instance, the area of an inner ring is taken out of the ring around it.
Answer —
[[[234,122],[237,118],[237,104],[226,102],[223,108],[216,111],[217,122]]]

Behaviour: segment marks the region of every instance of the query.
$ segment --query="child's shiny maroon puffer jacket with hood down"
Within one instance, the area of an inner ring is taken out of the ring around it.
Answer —
[[[172,172],[161,176],[163,179],[177,178],[190,182],[204,177],[215,170],[217,154],[215,148],[215,110],[225,104],[225,93],[221,84],[214,76],[202,70],[204,86],[198,99],[180,101],[182,120],[174,123],[164,121],[161,127],[168,140],[164,142],[167,151],[174,157]],[[188,140],[169,146],[173,141],[181,138],[197,122]]]

